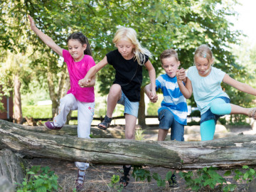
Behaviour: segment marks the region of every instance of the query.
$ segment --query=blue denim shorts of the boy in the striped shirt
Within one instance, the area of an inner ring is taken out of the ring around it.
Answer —
[[[179,142],[184,141],[184,125],[178,123],[174,119],[174,114],[170,110],[164,109],[159,112],[159,129],[170,129],[171,127],[171,140]]]

